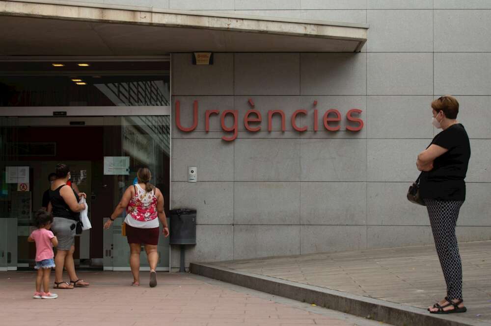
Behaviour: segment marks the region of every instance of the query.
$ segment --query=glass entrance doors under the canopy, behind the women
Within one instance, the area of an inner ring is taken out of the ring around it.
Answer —
[[[168,108],[153,107],[141,115],[101,115],[105,111],[110,110],[78,109],[77,116],[68,110],[65,117],[0,118],[0,270],[32,267],[35,248],[27,243],[27,236],[49,187],[48,175],[57,163],[70,167],[73,186],[87,194],[92,229],[76,238],[74,258],[79,267],[129,269],[129,246],[121,235],[123,215],[111,229],[104,231],[102,226],[133,184],[138,168],[151,170],[151,183],[164,194],[168,212]],[[168,239],[161,237],[159,252],[159,269],[168,270]],[[141,263],[145,269],[144,251]]]

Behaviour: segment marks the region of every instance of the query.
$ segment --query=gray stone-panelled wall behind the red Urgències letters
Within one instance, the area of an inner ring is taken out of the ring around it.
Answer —
[[[173,102],[181,103],[183,125],[192,124],[192,102],[199,102],[196,130],[173,124],[172,133],[171,207],[198,209],[198,245],[187,251],[187,264],[432,243],[425,208],[405,197],[418,176],[416,155],[438,132],[430,102],[444,94],[460,101],[472,146],[458,235],[491,239],[491,1],[104,3],[370,25],[360,53],[215,53],[211,66],[193,66],[190,53],[172,54]],[[263,115],[262,131],[244,128],[249,98]],[[298,123],[309,130],[300,134],[289,118],[302,108],[309,114]],[[327,132],[322,114],[329,108],[343,117],[363,110],[364,128]],[[221,140],[228,133],[218,116],[205,132],[207,109],[239,111],[235,141]],[[265,131],[273,109],[286,113],[284,132],[278,120],[275,131]],[[198,167],[197,183],[187,182],[188,166]],[[177,249],[172,257],[177,267]]]

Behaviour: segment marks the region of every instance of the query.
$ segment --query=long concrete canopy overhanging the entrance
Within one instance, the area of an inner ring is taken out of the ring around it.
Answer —
[[[61,1],[0,0],[0,55],[356,52],[368,25]]]

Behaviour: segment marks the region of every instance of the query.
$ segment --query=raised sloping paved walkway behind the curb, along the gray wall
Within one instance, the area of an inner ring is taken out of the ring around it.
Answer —
[[[491,325],[491,241],[459,244],[464,302],[459,317]],[[318,253],[213,263],[426,309],[445,297],[446,286],[434,246]]]

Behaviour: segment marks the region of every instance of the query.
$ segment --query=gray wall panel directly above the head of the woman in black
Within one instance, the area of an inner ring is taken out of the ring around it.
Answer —
[[[491,53],[435,53],[435,94],[490,95]]]

